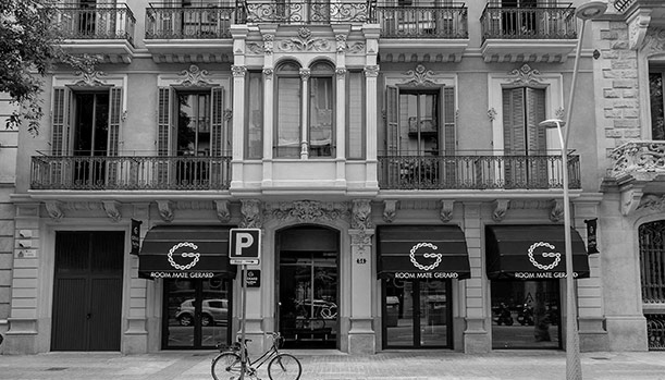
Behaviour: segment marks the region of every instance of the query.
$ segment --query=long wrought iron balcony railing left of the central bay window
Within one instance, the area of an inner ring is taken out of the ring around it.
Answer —
[[[226,189],[231,157],[35,156],[34,189]]]

